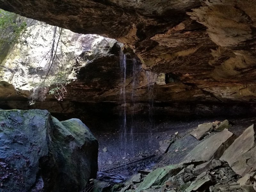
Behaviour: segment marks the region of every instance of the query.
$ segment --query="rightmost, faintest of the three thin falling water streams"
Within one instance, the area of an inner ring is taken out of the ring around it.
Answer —
[[[149,122],[149,134],[152,135],[152,130],[155,127],[154,122],[154,94],[153,94],[153,79],[152,74],[149,71],[146,71],[146,76],[148,80],[148,122]],[[150,140],[151,141],[151,140]]]

